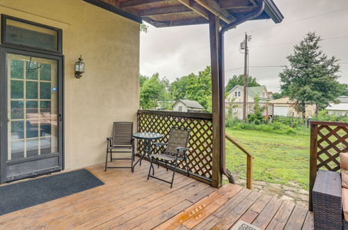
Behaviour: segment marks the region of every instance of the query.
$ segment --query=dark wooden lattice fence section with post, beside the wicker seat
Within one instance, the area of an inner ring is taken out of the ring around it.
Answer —
[[[318,169],[340,170],[340,153],[348,153],[348,123],[313,121],[310,125],[309,210]]]

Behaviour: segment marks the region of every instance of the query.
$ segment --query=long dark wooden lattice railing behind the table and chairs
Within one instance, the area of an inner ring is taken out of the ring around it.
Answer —
[[[190,174],[212,180],[212,114],[191,112],[166,112],[166,111],[138,111],[138,132],[159,132],[164,135],[159,142],[166,143],[169,131],[173,126],[189,128],[191,130],[189,148]],[[152,149],[155,149],[152,144]],[[143,141],[138,141],[138,151],[143,151]],[[179,164],[185,170],[184,161]]]

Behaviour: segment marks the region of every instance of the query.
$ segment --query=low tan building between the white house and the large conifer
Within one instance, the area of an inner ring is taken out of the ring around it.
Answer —
[[[274,116],[294,116],[302,117],[301,112],[296,112],[294,109],[294,102],[289,97],[282,97],[276,100],[269,101],[273,106]],[[315,114],[315,105],[306,105],[306,117],[313,116]]]

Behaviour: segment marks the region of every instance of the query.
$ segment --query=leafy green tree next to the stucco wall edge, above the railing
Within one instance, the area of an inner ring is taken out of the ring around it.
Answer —
[[[166,102],[168,101],[168,80],[159,79],[158,72],[152,75],[152,77],[142,76],[141,79],[143,79],[143,84],[140,87],[141,108],[156,109],[159,106],[162,107],[163,105],[166,105]]]

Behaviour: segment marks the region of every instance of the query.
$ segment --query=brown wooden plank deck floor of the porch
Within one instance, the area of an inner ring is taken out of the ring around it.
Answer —
[[[118,163],[120,165],[120,163]],[[150,178],[148,162],[135,168],[88,167],[105,185],[0,216],[0,229],[229,229],[244,220],[261,229],[313,229],[313,215],[238,185],[219,190],[177,174],[175,185]],[[157,176],[172,171],[155,167]]]

